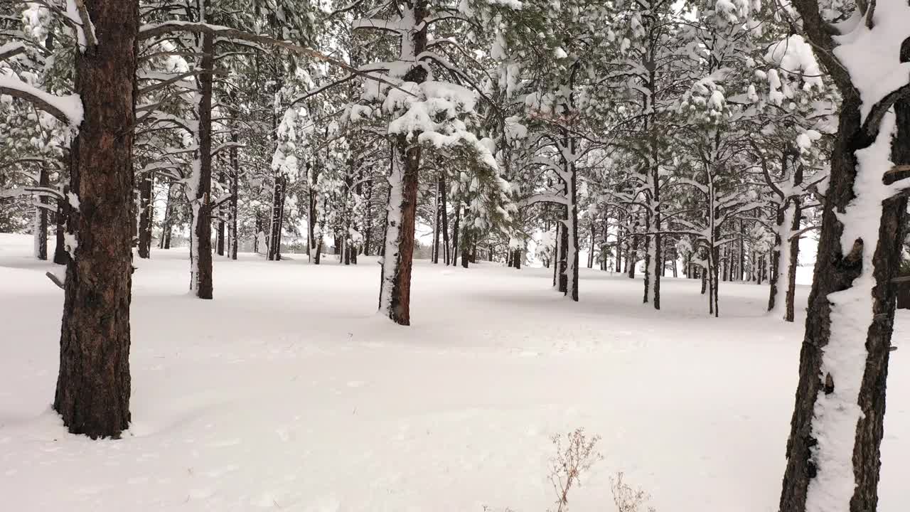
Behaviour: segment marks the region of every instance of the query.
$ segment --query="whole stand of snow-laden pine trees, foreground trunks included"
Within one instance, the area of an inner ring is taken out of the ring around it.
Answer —
[[[248,241],[280,260],[305,238],[314,264],[329,244],[346,264],[379,255],[379,311],[401,324],[420,224],[432,261],[465,267],[485,254],[521,268],[536,239],[573,301],[586,250],[588,267],[641,264],[656,309],[682,267],[714,315],[720,282],[767,281],[791,322],[799,240],[820,229],[782,510],[824,508],[820,474],[850,484],[839,503],[874,509],[910,176],[908,11],[5,2],[0,229],[30,223],[35,256],[67,265],[55,408],[72,432],[126,428],[133,249],[148,258],[184,228],[200,298],[213,252]]]

